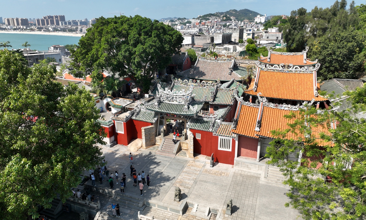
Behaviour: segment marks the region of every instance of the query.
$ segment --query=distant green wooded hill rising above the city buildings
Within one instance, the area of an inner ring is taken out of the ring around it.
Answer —
[[[254,18],[257,17],[257,15],[263,16],[262,14],[259,14],[258,12],[249,10],[249,9],[242,9],[242,10],[236,10],[236,9],[232,9],[229,11],[225,11],[225,12],[216,12],[216,13],[209,13],[209,14],[205,14],[202,16],[197,17],[197,19],[200,20],[210,20],[210,17],[215,16],[215,17],[225,17],[225,21],[230,21],[230,18],[226,18],[227,15],[229,17],[236,17],[236,20],[238,21],[243,21],[243,20],[249,20],[249,21],[254,21]]]

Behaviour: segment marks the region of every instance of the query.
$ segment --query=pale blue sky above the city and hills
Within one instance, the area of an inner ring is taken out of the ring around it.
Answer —
[[[42,18],[45,15],[65,15],[66,20],[141,15],[151,19],[168,17],[196,18],[230,9],[244,9],[268,15],[290,15],[292,10],[315,6],[330,7],[335,0],[0,0],[7,3],[0,11],[3,18]],[[351,1],[347,1],[348,5]],[[356,6],[366,4],[355,0]],[[114,13],[114,14],[113,14]]]

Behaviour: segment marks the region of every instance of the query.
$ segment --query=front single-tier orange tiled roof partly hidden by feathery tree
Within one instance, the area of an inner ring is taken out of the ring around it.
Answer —
[[[259,106],[247,106],[245,104],[239,104],[238,109],[239,115],[236,117],[238,118],[238,124],[236,125],[236,129],[232,130],[232,133],[236,133],[238,135],[247,136],[247,137],[268,137],[268,138],[275,138],[273,137],[271,131],[272,130],[285,130],[290,129],[288,124],[294,122],[294,119],[288,120],[284,117],[284,115],[288,115],[291,112],[298,113],[298,111],[291,111],[291,110],[283,110],[278,108],[272,108],[268,106],[263,106],[263,114],[261,118],[261,126],[259,131],[255,131],[255,125],[257,123],[257,116],[259,111]],[[237,109],[237,110],[238,110]],[[320,138],[320,133],[329,133],[328,128],[323,126],[313,127],[312,134],[315,138]],[[288,132],[286,138],[296,138],[296,136]],[[324,146],[329,143],[325,143],[318,140],[319,146]]]

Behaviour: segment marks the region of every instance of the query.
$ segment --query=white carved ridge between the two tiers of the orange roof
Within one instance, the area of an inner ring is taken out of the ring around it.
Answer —
[[[292,64],[288,64],[288,68],[286,69],[284,67],[284,63],[281,63],[279,65],[270,65],[270,64],[264,64],[259,62],[258,60],[255,61],[255,65],[263,71],[272,71],[272,72],[285,72],[285,73],[314,73],[314,71],[317,71],[320,68],[320,63],[315,64],[315,66],[310,67],[300,67],[300,66],[294,66]],[[258,74],[258,73],[257,73]]]

